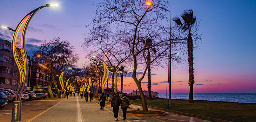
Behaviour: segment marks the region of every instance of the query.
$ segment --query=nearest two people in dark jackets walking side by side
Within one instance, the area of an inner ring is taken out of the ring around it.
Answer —
[[[118,120],[118,112],[119,112],[119,107],[121,105],[121,109],[123,110],[123,120],[126,120],[126,111],[130,105],[129,99],[126,97],[126,94],[122,94],[122,97],[120,99],[118,93],[113,94],[114,97],[111,99],[111,107],[113,107],[113,113],[115,117],[115,121]]]

